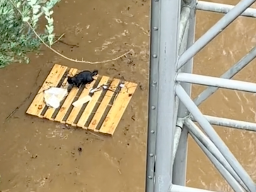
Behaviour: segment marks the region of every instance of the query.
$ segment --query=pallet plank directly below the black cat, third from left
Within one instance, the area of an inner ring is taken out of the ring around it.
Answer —
[[[74,69],[73,75],[75,75],[77,72],[78,72],[78,70]],[[78,91],[79,91],[79,88],[76,88],[76,87],[72,88],[72,90],[67,95],[64,103],[60,107],[60,110],[58,111],[58,114],[57,114],[56,118],[54,119],[54,121],[62,122],[62,123],[64,122],[63,118],[65,117],[66,112],[68,111],[69,107],[71,106],[71,104],[74,100],[74,97],[76,96]]]

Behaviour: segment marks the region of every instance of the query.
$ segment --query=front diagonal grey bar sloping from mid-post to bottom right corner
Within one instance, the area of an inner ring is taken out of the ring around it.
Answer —
[[[211,139],[213,144],[218,148],[218,150],[222,153],[222,155],[226,158],[227,162],[231,165],[234,171],[241,178],[246,187],[251,191],[256,191],[256,186],[248,173],[243,169],[234,155],[230,152],[225,143],[221,140],[219,135],[216,133],[214,128],[210,125],[207,119],[203,116],[198,107],[191,100],[189,95],[187,95],[186,91],[182,88],[181,85],[176,85],[176,94],[179,97],[180,101],[186,106],[187,110],[193,115],[202,129],[205,131],[207,136]]]

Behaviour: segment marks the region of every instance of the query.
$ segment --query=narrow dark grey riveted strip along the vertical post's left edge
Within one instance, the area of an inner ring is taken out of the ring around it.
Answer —
[[[151,2],[150,23],[150,72],[149,72],[149,101],[148,101],[148,129],[147,129],[147,155],[146,155],[146,192],[154,191],[155,174],[155,150],[156,150],[156,126],[157,126],[157,80],[159,57],[159,11],[160,4]]]

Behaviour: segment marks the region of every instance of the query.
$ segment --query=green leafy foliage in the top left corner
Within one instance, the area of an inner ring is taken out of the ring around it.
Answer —
[[[0,0],[0,68],[14,62],[29,63],[28,52],[38,51],[41,40],[49,46],[55,37],[52,8],[60,0]],[[47,20],[38,33],[38,21]]]

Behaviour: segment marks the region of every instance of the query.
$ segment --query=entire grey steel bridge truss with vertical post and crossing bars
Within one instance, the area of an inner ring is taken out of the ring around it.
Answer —
[[[231,80],[256,57],[256,47],[219,78],[192,74],[196,53],[238,16],[256,17],[256,9],[249,8],[255,1],[232,6],[152,0],[146,192],[208,191],[185,186],[188,133],[235,192],[256,192],[253,180],[212,127],[255,131],[256,123],[206,116],[198,109],[218,88],[256,93],[255,83]],[[196,9],[226,14],[194,42]],[[209,87],[193,101],[191,83]]]

